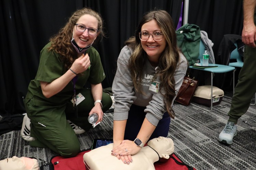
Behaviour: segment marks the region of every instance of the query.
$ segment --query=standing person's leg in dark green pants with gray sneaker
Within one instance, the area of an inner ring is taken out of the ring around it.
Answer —
[[[233,137],[237,135],[238,119],[244,115],[256,92],[256,48],[245,46],[244,64],[238,76],[238,83],[234,89],[228,123],[219,134],[218,141],[231,145]]]

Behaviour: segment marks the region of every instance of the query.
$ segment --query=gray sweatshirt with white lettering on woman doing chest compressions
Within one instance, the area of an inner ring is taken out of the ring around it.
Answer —
[[[149,90],[150,81],[156,73],[157,67],[153,67],[150,62],[146,60],[143,67],[143,78],[141,79],[142,91],[145,95],[134,91],[131,73],[127,67],[132,52],[131,48],[125,46],[121,50],[117,60],[117,71],[112,85],[112,92],[115,101],[114,120],[128,119],[130,106],[131,104],[135,104],[146,107],[144,112],[147,113],[147,120],[157,126],[159,120],[162,119],[163,113],[166,112],[163,95],[161,95],[159,91],[156,93]],[[176,68],[174,75],[176,95],[182,85],[186,70],[186,58],[180,53],[180,66]],[[159,82],[161,86],[159,76],[156,77],[155,81]],[[163,94],[165,93],[163,88],[161,89],[161,92]]]

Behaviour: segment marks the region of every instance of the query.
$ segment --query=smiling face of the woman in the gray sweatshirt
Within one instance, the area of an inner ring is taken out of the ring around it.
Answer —
[[[152,34],[154,32],[162,32],[162,31],[158,26],[156,20],[153,19],[142,25],[141,32],[147,32]],[[158,59],[166,47],[165,37],[163,37],[163,39],[160,41],[155,41],[152,35],[150,35],[147,41],[141,40],[141,45],[144,51],[147,53],[148,60],[151,62],[151,64],[153,62],[157,66]]]

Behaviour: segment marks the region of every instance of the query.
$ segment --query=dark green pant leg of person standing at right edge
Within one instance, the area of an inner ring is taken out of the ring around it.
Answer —
[[[256,92],[256,48],[245,46],[244,64],[238,76],[234,89],[228,121],[237,123],[238,119],[247,112],[252,97]]]

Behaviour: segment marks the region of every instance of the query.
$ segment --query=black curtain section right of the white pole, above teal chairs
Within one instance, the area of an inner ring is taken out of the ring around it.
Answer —
[[[218,48],[225,34],[242,34],[243,0],[190,0],[188,23],[196,24],[208,33],[214,43],[216,64]]]

